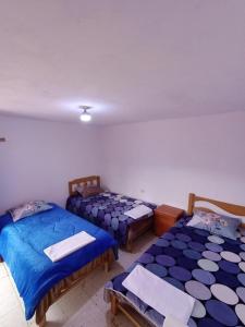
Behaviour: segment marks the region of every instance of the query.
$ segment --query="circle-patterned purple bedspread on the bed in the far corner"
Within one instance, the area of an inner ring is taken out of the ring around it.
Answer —
[[[105,192],[87,198],[83,198],[78,194],[72,195],[68,198],[66,209],[107,230],[122,245],[126,243],[128,226],[135,222],[134,219],[125,216],[124,213],[139,204],[144,204],[151,209],[156,208],[156,205],[150,203],[117,193]]]

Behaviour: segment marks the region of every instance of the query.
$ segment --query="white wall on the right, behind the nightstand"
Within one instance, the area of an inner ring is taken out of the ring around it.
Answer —
[[[245,205],[245,112],[101,129],[111,190],[186,208],[187,195]]]

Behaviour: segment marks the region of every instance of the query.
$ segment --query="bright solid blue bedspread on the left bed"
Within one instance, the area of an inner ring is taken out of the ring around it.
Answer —
[[[44,249],[79,231],[96,241],[57,263],[45,255]],[[12,222],[9,214],[0,217],[0,255],[24,300],[26,319],[52,286],[110,247],[117,251],[117,242],[106,231],[57,205],[17,222]]]

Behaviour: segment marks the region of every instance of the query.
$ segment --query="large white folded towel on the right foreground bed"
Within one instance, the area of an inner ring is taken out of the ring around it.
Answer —
[[[195,299],[137,265],[122,284],[164,317],[187,325]]]

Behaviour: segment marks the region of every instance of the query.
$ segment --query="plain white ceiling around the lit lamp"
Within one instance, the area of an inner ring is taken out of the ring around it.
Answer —
[[[0,113],[112,124],[245,110],[244,0],[7,0]]]

